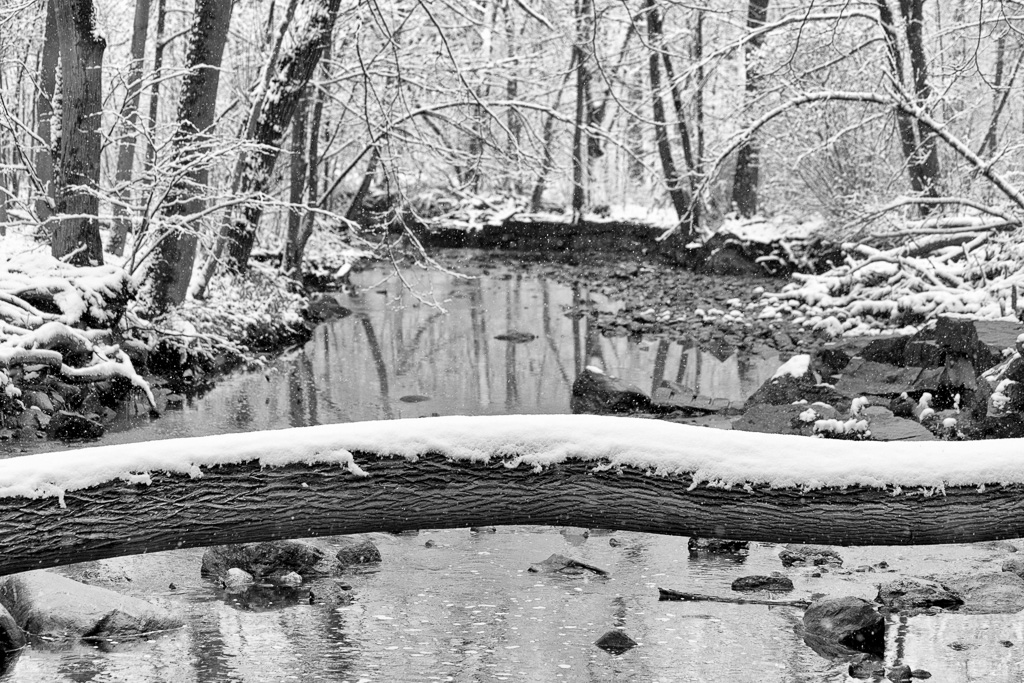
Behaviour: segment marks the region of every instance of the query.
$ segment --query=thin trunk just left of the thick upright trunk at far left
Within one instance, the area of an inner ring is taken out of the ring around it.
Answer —
[[[56,0],[43,0],[46,5],[46,25],[43,29],[43,48],[39,57],[36,91],[36,134],[39,147],[36,151],[36,175],[43,194],[36,200],[36,218],[45,222],[53,215],[56,197],[53,194],[53,140],[50,137],[53,116],[53,94],[57,79],[57,62],[60,57],[60,42],[57,38],[57,17],[54,7]]]

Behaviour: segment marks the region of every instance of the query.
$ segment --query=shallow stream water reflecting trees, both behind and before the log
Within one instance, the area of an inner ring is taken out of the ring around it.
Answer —
[[[156,420],[126,407],[100,443],[429,415],[567,413],[571,383],[586,365],[647,392],[670,379],[743,400],[781,362],[777,354],[600,337],[586,317],[564,313],[591,295],[546,280],[501,270],[402,276],[406,283],[382,269],[358,273],[355,284],[369,289],[337,295],[352,314],[321,325],[303,348],[232,375]],[[854,680],[846,663],[804,644],[795,630],[800,609],[657,599],[658,587],[734,595],[734,579],[782,569],[774,544],[714,555],[689,552],[683,538],[540,526],[369,536],[380,565],[299,589],[225,592],[200,577],[201,549],[105,560],[91,567],[101,585],[171,604],[186,615],[185,628],[101,648],[30,648],[0,681]],[[332,547],[330,539],[319,542]],[[839,550],[847,569],[820,577],[788,569],[796,590],[780,597],[873,599],[878,583],[900,573],[998,571],[1008,556],[1007,544]],[[552,553],[609,575],[526,571]],[[854,570],[883,560],[888,570]],[[613,628],[640,645],[618,655],[596,647]],[[908,664],[936,681],[1024,679],[1018,614],[890,620],[887,633],[887,665]]]

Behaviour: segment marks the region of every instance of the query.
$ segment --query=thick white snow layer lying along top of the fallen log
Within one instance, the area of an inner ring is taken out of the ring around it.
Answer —
[[[1018,439],[973,442],[853,442],[721,431],[639,418],[589,415],[441,417],[356,422],[39,454],[0,461],[0,497],[61,499],[65,492],[161,472],[202,476],[217,465],[337,464],[373,476],[353,453],[500,461],[543,470],[567,460],[595,469],[635,467],[651,475],[692,474],[716,486],[768,484],[925,487],[1024,483]]]

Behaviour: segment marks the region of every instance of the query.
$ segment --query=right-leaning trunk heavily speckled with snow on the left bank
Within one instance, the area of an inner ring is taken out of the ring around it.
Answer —
[[[331,40],[340,0],[310,0],[308,4],[303,15],[305,23],[295,27],[295,43],[278,59],[276,76],[270,81],[259,122],[250,137],[250,141],[259,145],[259,152],[246,157],[241,195],[261,195],[269,189],[284,131]],[[226,225],[224,256],[228,268],[238,271],[248,265],[262,215],[262,203],[253,202],[239,219]]]

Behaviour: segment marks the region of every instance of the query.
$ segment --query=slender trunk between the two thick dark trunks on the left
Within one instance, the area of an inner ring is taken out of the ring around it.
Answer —
[[[135,0],[135,23],[131,35],[131,65],[128,69],[125,105],[121,112],[121,142],[118,167],[114,175],[117,201],[114,203],[114,230],[111,251],[124,253],[125,239],[131,228],[131,179],[135,167],[135,130],[138,126],[138,100],[142,94],[142,65],[145,59],[145,39],[150,31],[150,0]]]

